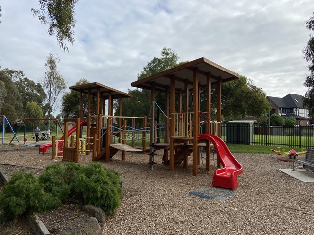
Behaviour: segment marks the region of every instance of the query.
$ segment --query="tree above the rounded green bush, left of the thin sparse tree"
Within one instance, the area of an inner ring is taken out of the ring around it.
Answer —
[[[26,105],[29,102],[36,102],[40,107],[44,107],[44,101],[46,94],[40,85],[40,83],[35,83],[32,80],[29,80],[27,77],[19,78],[15,85],[19,90],[19,93],[22,97],[23,110],[25,110]]]

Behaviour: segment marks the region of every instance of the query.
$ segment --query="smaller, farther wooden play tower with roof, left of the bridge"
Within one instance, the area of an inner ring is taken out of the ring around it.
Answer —
[[[119,128],[122,128],[123,121],[119,117],[113,116],[113,101],[118,99],[119,114],[122,114],[122,99],[132,97],[131,94],[118,91],[98,82],[76,85],[70,87],[71,90],[80,94],[79,120],[87,120],[87,150],[92,150],[93,161],[105,158],[110,161],[117,151],[112,144],[112,126],[115,118],[118,118]],[[87,94],[88,101],[83,107],[83,94]],[[107,105],[105,105],[107,103]],[[85,112],[85,113],[84,113]],[[83,118],[85,117],[85,118]],[[78,122],[77,122],[78,123]],[[79,133],[79,132],[78,132]],[[89,145],[90,144],[90,145]],[[119,146],[121,146],[120,144]],[[123,155],[125,153],[123,152]],[[124,158],[124,156],[122,156]]]

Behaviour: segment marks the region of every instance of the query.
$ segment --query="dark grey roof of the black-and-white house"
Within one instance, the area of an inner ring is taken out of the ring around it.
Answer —
[[[299,94],[287,94],[283,98],[267,96],[278,108],[303,108],[303,96]]]

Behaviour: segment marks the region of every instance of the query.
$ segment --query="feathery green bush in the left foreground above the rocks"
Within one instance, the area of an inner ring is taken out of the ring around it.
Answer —
[[[19,171],[2,187],[1,219],[14,220],[29,210],[50,211],[70,199],[113,214],[122,198],[120,182],[119,173],[100,163],[49,165],[38,179],[32,173]]]

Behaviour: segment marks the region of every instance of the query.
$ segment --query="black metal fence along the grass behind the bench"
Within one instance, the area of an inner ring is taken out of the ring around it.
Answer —
[[[253,126],[247,123],[222,125],[226,143],[314,148],[314,126]]]

